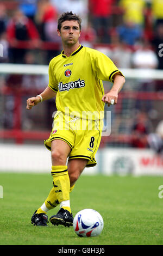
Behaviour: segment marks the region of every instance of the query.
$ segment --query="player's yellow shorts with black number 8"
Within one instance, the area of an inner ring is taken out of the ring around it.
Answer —
[[[102,120],[71,118],[58,111],[54,117],[51,135],[44,143],[46,148],[51,150],[51,142],[54,139],[61,139],[71,148],[68,160],[87,159],[86,167],[92,167],[97,164],[95,154],[101,142],[102,127]]]

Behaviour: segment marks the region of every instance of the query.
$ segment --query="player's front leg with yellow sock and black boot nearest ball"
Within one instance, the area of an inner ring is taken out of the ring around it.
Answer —
[[[58,143],[59,142],[59,143]],[[55,195],[60,203],[60,210],[49,219],[53,225],[65,225],[70,227],[73,216],[70,208],[70,178],[66,160],[70,154],[70,146],[61,140],[52,143],[52,176]],[[64,153],[63,153],[64,152]]]

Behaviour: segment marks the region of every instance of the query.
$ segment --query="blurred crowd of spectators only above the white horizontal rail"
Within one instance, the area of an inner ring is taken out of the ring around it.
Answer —
[[[80,44],[104,52],[120,68],[163,69],[160,0],[1,1],[0,62],[48,64],[61,51],[58,17],[71,10],[83,20]]]

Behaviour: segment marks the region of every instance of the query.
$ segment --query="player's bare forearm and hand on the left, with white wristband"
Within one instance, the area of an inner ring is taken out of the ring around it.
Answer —
[[[40,94],[42,96],[42,101],[52,99],[57,95],[49,86]],[[31,97],[27,100],[27,109],[31,109],[33,106],[37,105],[41,101],[40,96]]]

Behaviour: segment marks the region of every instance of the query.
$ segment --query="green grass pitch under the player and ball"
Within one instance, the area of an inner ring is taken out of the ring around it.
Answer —
[[[0,245],[163,245],[161,177],[80,176],[71,193],[73,215],[92,208],[102,215],[97,237],[78,237],[73,227],[30,222],[52,188],[49,174],[0,173]],[[59,207],[48,211],[48,218]]]

